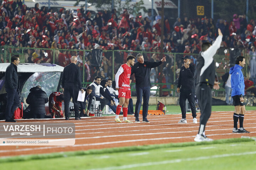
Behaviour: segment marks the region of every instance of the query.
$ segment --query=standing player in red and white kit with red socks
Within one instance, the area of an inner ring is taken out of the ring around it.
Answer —
[[[132,121],[127,120],[127,112],[128,112],[128,104],[129,100],[131,98],[131,92],[130,92],[130,74],[131,74],[131,66],[134,65],[135,57],[129,55],[126,58],[127,62],[126,64],[122,64],[120,68],[118,69],[116,73],[116,89],[118,90],[118,98],[119,98],[119,104],[117,106],[116,110],[116,118],[115,121],[117,123],[121,123],[121,120],[119,119],[119,114],[121,111],[121,108],[123,106],[123,121],[124,123],[133,123]]]

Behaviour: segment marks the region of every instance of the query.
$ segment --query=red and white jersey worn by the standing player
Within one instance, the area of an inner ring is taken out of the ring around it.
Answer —
[[[132,68],[122,64],[116,73],[116,88],[130,90],[130,74]]]

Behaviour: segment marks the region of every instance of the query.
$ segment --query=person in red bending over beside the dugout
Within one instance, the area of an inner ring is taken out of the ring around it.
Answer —
[[[62,102],[64,101],[64,95],[61,92],[52,92],[49,96],[49,112],[52,114],[52,118],[55,118],[55,114],[63,118]]]

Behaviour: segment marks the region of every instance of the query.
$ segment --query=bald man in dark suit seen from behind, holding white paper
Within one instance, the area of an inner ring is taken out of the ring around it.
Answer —
[[[64,105],[65,105],[65,119],[69,120],[69,102],[73,98],[75,109],[75,120],[80,120],[79,117],[79,103],[77,101],[79,90],[82,89],[80,68],[76,66],[77,57],[71,57],[71,63],[66,66],[62,73],[62,87],[64,90]]]

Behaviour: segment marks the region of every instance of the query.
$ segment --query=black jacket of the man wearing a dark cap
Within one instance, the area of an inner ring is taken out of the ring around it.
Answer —
[[[178,77],[178,86],[182,89],[195,89],[195,79],[196,79],[196,66],[192,63],[189,65],[189,68],[185,68],[184,66],[181,67],[180,75]]]

